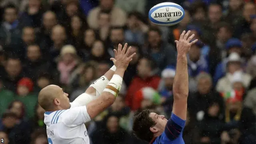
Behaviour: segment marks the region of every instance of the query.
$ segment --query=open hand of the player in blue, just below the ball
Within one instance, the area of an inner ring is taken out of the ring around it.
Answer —
[[[192,34],[190,37],[188,37],[189,34],[190,34],[190,30],[187,33],[184,30],[182,32],[182,34],[180,35],[180,39],[175,40],[175,43],[176,43],[176,46],[177,46],[177,52],[180,55],[187,54],[188,51],[190,50],[192,44],[194,44],[198,41],[198,39],[196,39],[196,40],[193,40],[192,42],[190,42],[194,38],[195,35]]]

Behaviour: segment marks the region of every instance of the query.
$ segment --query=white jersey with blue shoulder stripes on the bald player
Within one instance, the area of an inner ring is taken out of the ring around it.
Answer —
[[[84,123],[91,120],[86,106],[44,113],[49,144],[90,144]]]

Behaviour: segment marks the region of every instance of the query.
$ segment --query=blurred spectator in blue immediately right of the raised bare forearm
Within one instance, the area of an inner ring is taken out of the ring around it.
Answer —
[[[188,52],[188,74],[191,77],[196,77],[200,72],[209,72],[208,62],[200,52],[203,46],[204,44],[198,41]]]

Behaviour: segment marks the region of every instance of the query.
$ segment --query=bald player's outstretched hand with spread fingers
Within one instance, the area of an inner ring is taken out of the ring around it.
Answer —
[[[122,48],[121,44],[118,44],[118,49],[115,50],[114,49],[114,53],[115,53],[115,58],[110,58],[110,60],[113,61],[114,65],[116,66],[116,68],[123,68],[126,70],[126,68],[129,65],[129,62],[132,61],[132,58],[136,55],[136,53],[134,52],[132,55],[129,55],[130,53],[130,48],[127,49],[127,43],[124,44],[124,48]]]

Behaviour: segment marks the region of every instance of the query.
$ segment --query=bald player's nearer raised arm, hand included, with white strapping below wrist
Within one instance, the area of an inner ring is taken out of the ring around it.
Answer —
[[[127,44],[124,45],[124,48],[122,49],[122,46],[118,46],[118,50],[114,50],[115,52],[115,58],[111,58],[116,66],[116,72],[106,88],[103,90],[103,92],[100,94],[100,96],[92,100],[92,102],[89,102],[86,105],[87,112],[91,119],[95,118],[98,114],[103,112],[106,108],[108,108],[110,105],[112,105],[116,99],[116,96],[118,95],[120,88],[122,86],[122,78],[124,76],[124,72],[129,64],[129,62],[132,60],[132,57],[135,55],[132,54],[128,57],[128,54],[130,52],[130,48],[128,48],[126,52]]]

